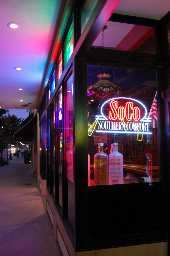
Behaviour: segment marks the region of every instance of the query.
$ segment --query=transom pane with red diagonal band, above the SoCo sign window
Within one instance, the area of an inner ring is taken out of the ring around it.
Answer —
[[[104,30],[104,48],[155,54],[154,28],[108,21]],[[103,47],[102,31],[92,47]]]

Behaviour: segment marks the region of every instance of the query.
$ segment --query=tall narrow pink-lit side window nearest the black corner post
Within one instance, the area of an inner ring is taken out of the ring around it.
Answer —
[[[66,82],[65,97],[65,177],[68,182],[68,220],[73,226],[73,75]]]

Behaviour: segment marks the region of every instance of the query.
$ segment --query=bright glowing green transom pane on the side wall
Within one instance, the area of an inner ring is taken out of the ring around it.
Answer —
[[[64,43],[64,66],[66,66],[68,60],[73,53],[73,24],[70,27],[66,41]]]

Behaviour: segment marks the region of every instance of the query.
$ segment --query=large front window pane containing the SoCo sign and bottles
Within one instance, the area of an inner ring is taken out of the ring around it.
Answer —
[[[88,65],[87,95],[89,185],[159,181],[156,72]]]

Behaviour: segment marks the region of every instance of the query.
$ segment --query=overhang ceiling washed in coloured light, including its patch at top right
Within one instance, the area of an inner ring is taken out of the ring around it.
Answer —
[[[64,0],[2,0],[0,8],[0,106],[36,109],[58,16]],[[161,19],[169,0],[121,0],[114,13]],[[11,29],[10,22],[21,27]],[[18,71],[15,67],[21,67]],[[19,88],[23,88],[19,91]],[[23,102],[20,102],[23,100]]]

